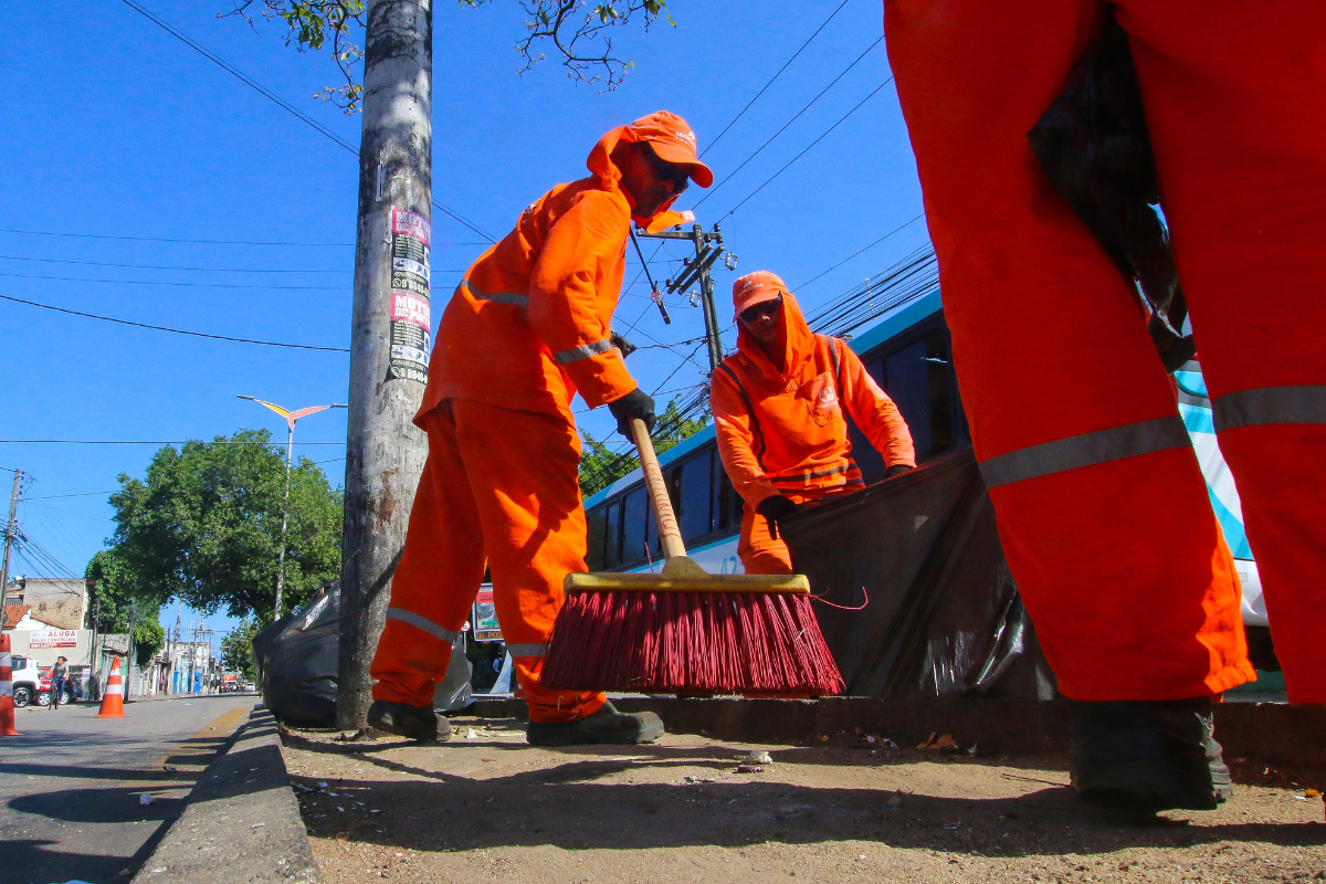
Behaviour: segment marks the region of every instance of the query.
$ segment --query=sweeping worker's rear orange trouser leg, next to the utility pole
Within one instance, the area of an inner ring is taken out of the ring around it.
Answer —
[[[371,667],[373,698],[411,706],[432,701],[484,579],[484,535],[450,403],[430,412],[426,429],[428,460]]]

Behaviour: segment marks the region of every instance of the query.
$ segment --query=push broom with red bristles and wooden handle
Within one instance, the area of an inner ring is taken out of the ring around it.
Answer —
[[[642,420],[631,420],[660,574],[568,574],[540,684],[556,691],[823,696],[842,691],[801,574],[708,574],[686,554]]]

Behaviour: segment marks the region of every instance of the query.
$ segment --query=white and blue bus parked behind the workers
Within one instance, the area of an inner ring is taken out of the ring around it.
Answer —
[[[937,288],[892,307],[849,346],[907,419],[918,463],[969,444]],[[1261,580],[1244,533],[1238,494],[1216,444],[1200,367],[1188,363],[1175,378],[1179,411],[1192,436],[1211,505],[1242,580],[1244,623],[1265,627]],[[866,482],[883,478],[883,459],[855,425],[850,425],[849,432],[853,456]],[[687,551],[709,573],[740,574],[737,531],[741,526],[741,500],[719,460],[713,424],[663,452],[659,463]],[[639,469],[585,501],[585,510],[590,571],[659,570],[658,531]]]

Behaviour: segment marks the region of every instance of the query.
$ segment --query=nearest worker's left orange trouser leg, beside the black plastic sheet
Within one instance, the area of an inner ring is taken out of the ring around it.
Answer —
[[[1253,676],[1237,577],[1144,317],[1026,142],[1102,11],[887,0],[884,33],[976,457],[1059,689],[1195,697]]]

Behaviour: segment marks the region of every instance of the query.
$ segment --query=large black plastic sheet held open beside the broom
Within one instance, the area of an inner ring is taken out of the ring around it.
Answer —
[[[1057,696],[971,448],[780,529],[812,591],[842,606],[817,603],[815,615],[846,694]]]

